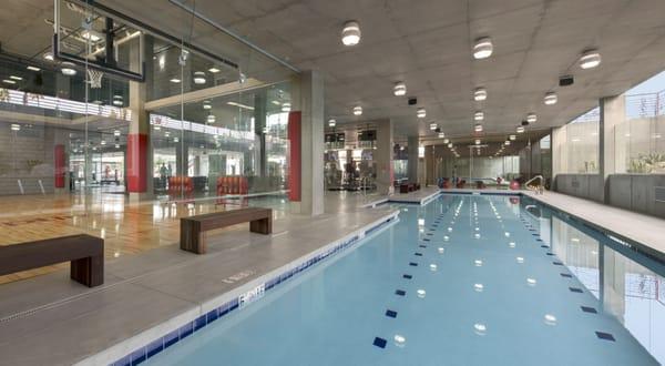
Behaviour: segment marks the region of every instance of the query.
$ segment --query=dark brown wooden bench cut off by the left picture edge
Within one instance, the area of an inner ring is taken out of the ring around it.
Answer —
[[[71,262],[70,277],[88,287],[104,283],[104,240],[71,235],[0,246],[0,275]]]

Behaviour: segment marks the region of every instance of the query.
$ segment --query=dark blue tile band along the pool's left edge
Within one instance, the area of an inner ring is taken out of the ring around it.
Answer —
[[[358,244],[362,238],[367,237],[371,233],[377,232],[380,228],[383,228],[386,225],[388,225],[392,222],[396,222],[397,220],[398,220],[397,215],[391,215],[390,217],[382,220],[379,223],[376,223],[374,226],[367,228],[364,233],[356,234],[356,235],[342,241],[341,243],[332,246],[331,248],[329,248],[320,254],[317,254],[308,260],[305,260],[300,265],[297,265],[294,268],[290,268],[282,274],[278,274],[275,277],[266,281],[263,285],[259,285],[259,287],[263,286],[262,292],[275,288],[275,286],[279,285],[283,282],[286,282],[287,279],[294,277],[297,274],[300,274],[305,270],[314,266],[315,264],[318,264],[323,260],[325,260],[331,255],[338,254],[355,244]],[[127,366],[127,365],[133,366],[133,365],[139,365],[141,363],[144,363],[149,358],[165,350],[167,347],[171,347],[171,346],[177,344],[178,342],[185,339],[186,337],[191,336],[195,332],[205,328],[206,325],[228,315],[231,312],[233,312],[235,309],[238,309],[242,305],[239,303],[241,302],[239,297],[241,296],[235,297],[232,301],[228,301],[227,303],[223,304],[222,306],[214,308],[214,309],[209,311],[208,313],[203,314],[191,322],[187,322],[180,328],[177,328],[162,337],[158,337],[157,339],[150,342],[147,345],[144,345],[137,349],[134,349],[129,355],[123,356],[122,358],[117,359],[116,362],[112,363],[111,365],[112,366],[121,366],[121,365],[122,366]]]

